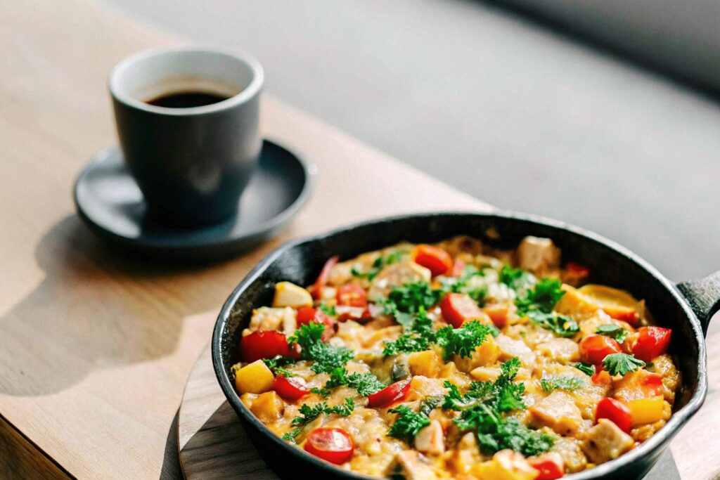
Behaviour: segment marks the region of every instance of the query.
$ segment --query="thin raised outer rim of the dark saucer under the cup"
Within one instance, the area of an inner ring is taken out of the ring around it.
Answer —
[[[89,162],[86,163],[86,166],[84,166],[84,168],[78,174],[75,183],[73,184],[73,202],[75,204],[76,214],[78,215],[78,217],[81,218],[85,225],[87,225],[93,232],[96,232],[96,234],[98,234],[100,237],[106,238],[107,240],[111,240],[114,243],[131,248],[133,250],[143,250],[152,253],[161,253],[162,256],[173,256],[179,253],[189,253],[192,254],[192,256],[212,257],[233,253],[237,250],[242,250],[243,248],[249,248],[252,245],[260,243],[262,240],[273,236],[275,232],[277,232],[281,227],[284,227],[284,225],[286,225],[289,220],[291,220],[300,212],[300,209],[305,206],[307,201],[310,199],[312,191],[315,189],[315,181],[318,174],[318,167],[315,163],[307,162],[307,160],[305,160],[305,158],[302,158],[301,155],[298,155],[289,148],[284,147],[284,145],[282,145],[277,140],[269,137],[264,137],[263,143],[268,143],[274,148],[279,148],[280,150],[283,150],[285,155],[288,155],[290,158],[299,163],[304,176],[304,182],[300,194],[298,194],[297,197],[295,197],[295,199],[285,209],[282,210],[282,212],[279,212],[279,214],[276,214],[269,219],[266,219],[264,222],[254,225],[248,230],[241,231],[240,235],[224,235],[222,237],[212,237],[212,234],[209,234],[209,237],[206,235],[201,237],[202,240],[194,241],[187,238],[187,232],[197,233],[202,232],[203,230],[212,230],[225,223],[221,222],[217,225],[210,225],[207,227],[178,230],[178,235],[172,235],[171,232],[168,232],[166,235],[163,235],[163,238],[148,238],[144,234],[141,234],[139,237],[133,238],[122,235],[116,230],[110,230],[103,225],[100,225],[98,222],[95,222],[94,219],[92,219],[90,215],[87,214],[86,209],[83,208],[82,203],[79,199],[80,194],[78,190],[81,188],[84,178],[86,178],[86,176],[91,171],[93,171],[96,163],[99,163],[102,158],[107,157],[107,155],[113,154],[122,155],[122,150],[120,150],[120,146],[117,144],[108,145],[107,147],[96,151],[96,153],[90,156]],[[229,222],[231,220],[232,218],[226,220],[226,222]],[[168,242],[168,240],[171,241]],[[206,251],[206,249],[208,248],[211,248],[212,251]]]

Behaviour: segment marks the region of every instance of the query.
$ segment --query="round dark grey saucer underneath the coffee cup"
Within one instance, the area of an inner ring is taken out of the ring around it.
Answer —
[[[315,166],[265,140],[259,166],[240,197],[238,214],[194,230],[154,223],[117,146],[96,153],[75,184],[78,215],[114,243],[166,258],[207,259],[237,253],[273,235],[310,196]]]

